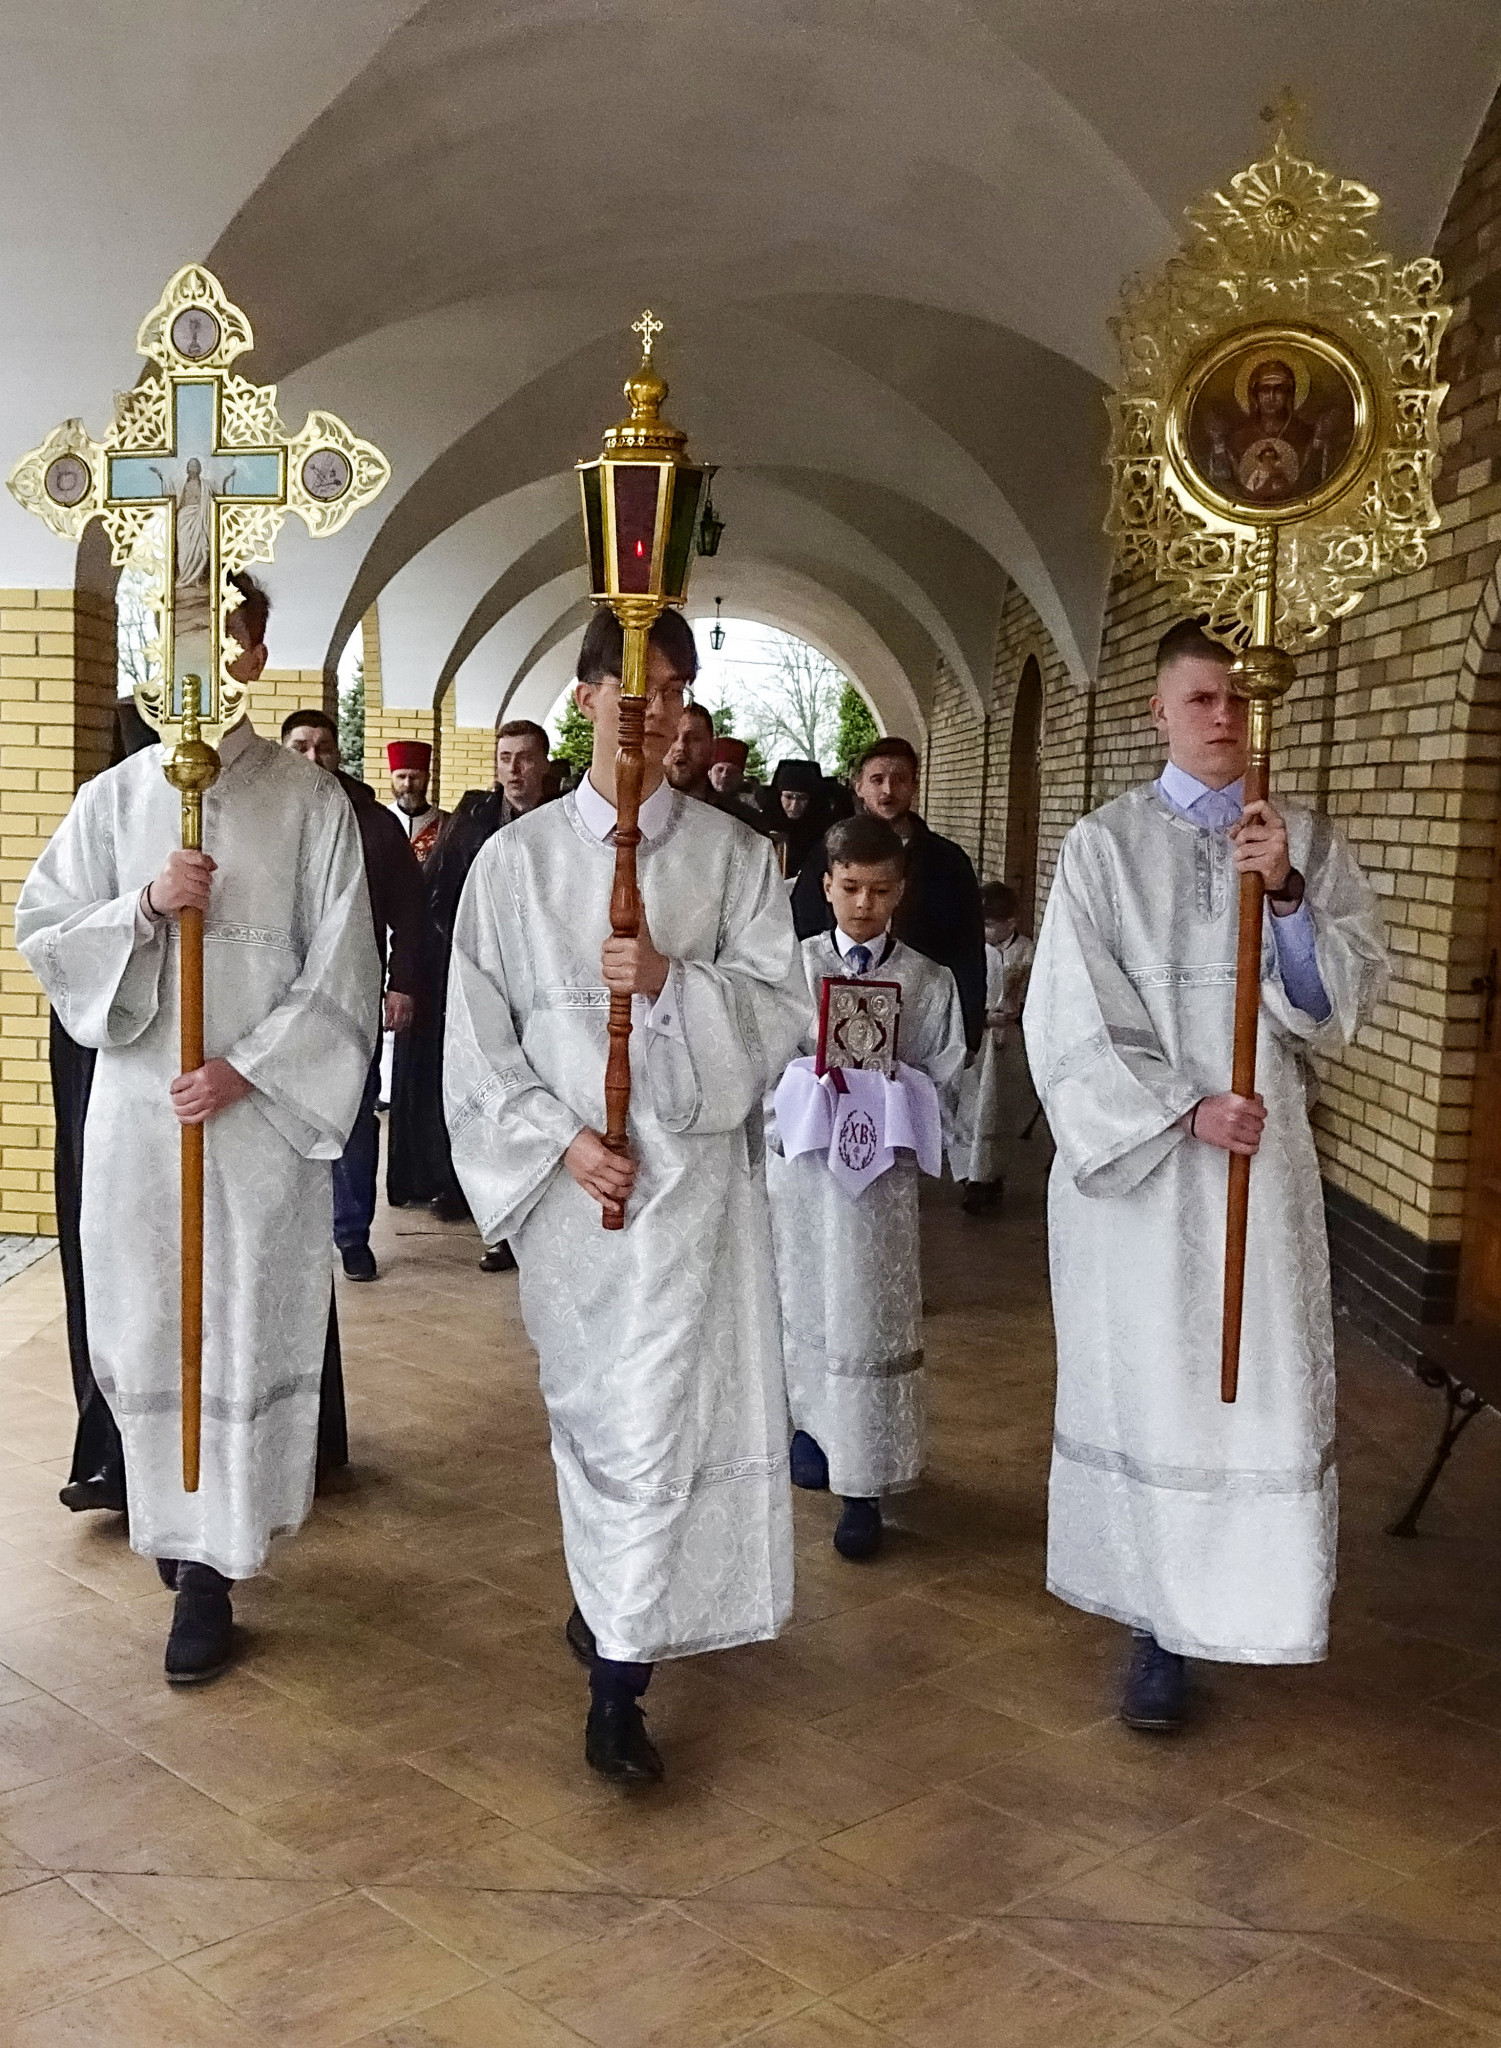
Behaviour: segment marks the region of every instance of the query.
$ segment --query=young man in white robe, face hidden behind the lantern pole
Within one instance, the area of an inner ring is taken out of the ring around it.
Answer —
[[[598,612],[577,705],[594,766],[479,852],[448,977],[453,1161],[510,1241],[541,1358],[586,1757],[659,1778],[641,1694],[663,1657],[774,1636],[792,1602],[786,1395],[760,1104],[803,1030],[766,840],[663,782],[696,674],[653,627],[637,940],[610,936],[620,627]],[[631,1155],[602,1139],[610,989],[635,995]],[[623,1231],[600,1204],[627,1202]]]

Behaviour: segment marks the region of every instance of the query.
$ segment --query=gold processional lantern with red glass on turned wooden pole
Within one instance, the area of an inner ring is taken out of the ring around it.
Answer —
[[[647,721],[647,635],[670,604],[688,596],[698,502],[706,471],[686,455],[688,436],[661,418],[668,387],[651,360],[661,322],[647,311],[633,324],[641,365],[627,377],[629,418],[608,428],[604,451],[580,463],[584,535],[590,551],[590,592],[620,621],[620,750],[614,758],[614,889],[610,930],[635,938],[641,930],[637,846],[641,844],[641,741]],[[604,1069],[604,1143],[627,1151],[631,1110],[631,997],[610,995],[610,1053]],[[604,1206],[604,1229],[625,1229],[625,1208]]]

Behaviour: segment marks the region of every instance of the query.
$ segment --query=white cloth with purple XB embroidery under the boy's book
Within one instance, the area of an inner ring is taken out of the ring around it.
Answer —
[[[899,1149],[915,1153],[924,1174],[944,1169],[938,1090],[926,1073],[901,1061],[887,1077],[862,1067],[833,1067],[819,1075],[811,1059],[795,1059],[776,1083],[772,1108],[782,1155],[825,1153],[829,1174],[846,1194],[860,1194],[878,1180]]]

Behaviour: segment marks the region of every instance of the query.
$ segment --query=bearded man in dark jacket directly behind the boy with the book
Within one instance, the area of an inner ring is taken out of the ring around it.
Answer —
[[[893,920],[897,938],[952,969],[964,1010],[964,1038],[977,1051],[985,1028],[985,913],[979,881],[962,846],[940,838],[913,811],[917,750],[907,739],[876,739],[856,764],[854,795],[907,844],[907,877]],[[823,897],[823,844],[813,848],[792,889],[799,938],[827,932],[833,911]]]

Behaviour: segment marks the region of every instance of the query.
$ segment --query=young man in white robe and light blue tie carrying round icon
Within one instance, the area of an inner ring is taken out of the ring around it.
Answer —
[[[1157,782],[1063,844],[1024,1012],[1057,1141],[1048,1585],[1126,1622],[1122,1718],[1175,1729],[1190,1657],[1315,1663],[1335,1579],[1335,1372],[1315,1051],[1386,981],[1327,817],[1241,809],[1245,702],[1198,625],[1157,649]],[[1239,877],[1268,887],[1257,1096],[1229,1094]],[[1218,1395],[1229,1155],[1251,1155],[1239,1401]]]

